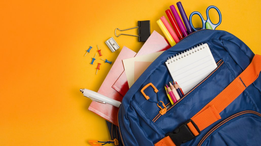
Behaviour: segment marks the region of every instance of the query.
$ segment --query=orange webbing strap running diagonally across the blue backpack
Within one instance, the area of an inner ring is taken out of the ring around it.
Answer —
[[[200,131],[221,119],[219,113],[233,102],[250,84],[258,77],[261,71],[261,56],[255,55],[248,67],[232,81],[220,94],[210,101],[203,109],[195,114],[191,120],[194,122],[186,123],[194,136],[199,135]],[[197,126],[195,127],[194,124]],[[173,145],[170,136],[164,137],[155,146]],[[179,144],[178,144],[179,145]]]

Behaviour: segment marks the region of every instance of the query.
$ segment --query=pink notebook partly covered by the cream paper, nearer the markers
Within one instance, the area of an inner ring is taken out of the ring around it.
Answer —
[[[147,41],[144,43],[144,45],[140,48],[135,57],[164,51],[169,49],[170,47],[171,46],[167,39],[165,39],[157,31],[154,30]],[[121,76],[113,84],[112,88],[118,91],[122,96],[126,94],[126,92],[129,90],[129,86],[125,71],[122,72]]]

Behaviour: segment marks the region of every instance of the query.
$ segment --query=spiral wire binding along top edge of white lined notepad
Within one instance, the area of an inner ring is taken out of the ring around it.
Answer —
[[[191,53],[200,51],[200,50],[202,50],[204,48],[205,48],[205,44],[203,44],[203,43],[199,44],[199,46],[197,45],[197,47],[194,47],[194,48],[191,48],[191,49],[189,49],[187,51],[184,51],[184,53],[181,53],[179,55],[176,54],[176,56],[174,55],[173,58],[172,58],[172,56],[170,58],[168,57],[169,59],[167,60],[167,62],[168,62],[168,64],[170,64],[170,63],[175,62],[175,61],[177,61],[177,60],[179,60],[179,59],[181,59],[183,57],[186,57],[186,56],[190,55]]]

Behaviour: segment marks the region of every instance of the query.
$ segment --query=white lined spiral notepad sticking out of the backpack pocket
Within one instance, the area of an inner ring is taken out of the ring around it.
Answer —
[[[171,77],[182,88],[184,94],[206,78],[217,64],[205,43],[167,60]]]

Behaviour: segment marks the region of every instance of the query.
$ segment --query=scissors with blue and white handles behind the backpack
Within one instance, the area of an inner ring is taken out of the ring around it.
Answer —
[[[217,13],[218,13],[219,22],[218,22],[217,24],[213,24],[213,23],[211,22],[210,18],[209,18],[209,10],[210,10],[211,8],[216,9],[216,11],[217,11]],[[198,15],[198,16],[200,17],[201,21],[202,21],[202,29],[212,29],[212,30],[214,29],[214,30],[215,30],[216,27],[217,27],[218,25],[220,25],[221,20],[222,20],[220,10],[219,10],[216,6],[213,6],[213,5],[207,7],[207,9],[206,9],[206,15],[207,15],[207,19],[206,19],[206,20],[204,20],[204,18],[203,18],[202,15],[200,14],[200,12],[198,12],[198,11],[192,12],[192,13],[190,14],[190,16],[189,16],[189,23],[190,23],[190,25],[191,25],[191,27],[192,27],[192,29],[193,29],[194,31],[197,31],[197,30],[194,28],[193,24],[192,24],[192,16],[195,15],[195,14]]]

